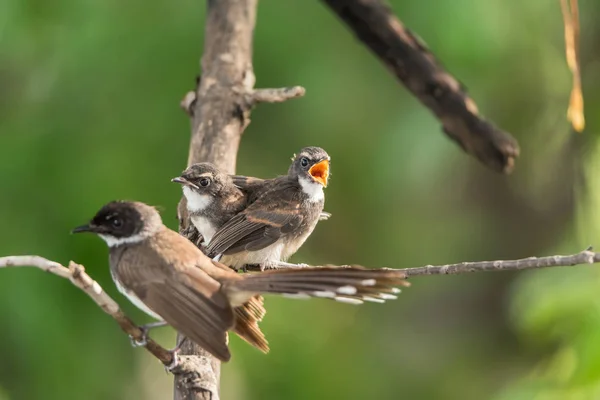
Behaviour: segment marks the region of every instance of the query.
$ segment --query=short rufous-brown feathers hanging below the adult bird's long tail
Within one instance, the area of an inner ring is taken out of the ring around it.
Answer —
[[[235,326],[233,331],[246,342],[263,353],[269,352],[269,344],[258,323],[266,314],[262,296],[254,296],[240,307],[233,309]]]

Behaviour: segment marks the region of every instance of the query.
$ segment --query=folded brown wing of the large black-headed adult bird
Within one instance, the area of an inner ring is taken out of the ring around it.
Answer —
[[[187,250],[186,245],[175,243],[160,254],[152,246],[145,247],[147,251],[133,249],[126,250],[120,259],[121,284],[169,325],[228,361],[231,355],[226,333],[234,325],[234,316],[220,284],[193,264],[177,270],[172,267],[170,258]]]

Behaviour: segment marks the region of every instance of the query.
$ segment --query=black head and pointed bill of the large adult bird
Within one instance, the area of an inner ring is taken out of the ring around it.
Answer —
[[[87,224],[72,233],[92,232],[115,239],[142,239],[156,233],[162,219],[154,207],[133,201],[111,201],[104,205]],[[123,241],[125,242],[125,241]]]

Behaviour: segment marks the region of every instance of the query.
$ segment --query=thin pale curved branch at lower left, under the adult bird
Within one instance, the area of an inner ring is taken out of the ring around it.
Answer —
[[[0,268],[4,267],[35,267],[70,280],[73,285],[83,290],[105,313],[117,321],[123,332],[138,342],[144,339],[142,330],[121,311],[119,305],[106,294],[98,282],[85,272],[85,268],[82,265],[71,261],[69,268],[67,268],[57,262],[39,256],[10,256],[0,257]],[[144,347],[164,365],[170,365],[173,362],[171,352],[154,340],[146,338],[146,345]],[[186,370],[189,367],[190,365],[188,364],[180,363],[179,368],[174,373],[187,372]]]

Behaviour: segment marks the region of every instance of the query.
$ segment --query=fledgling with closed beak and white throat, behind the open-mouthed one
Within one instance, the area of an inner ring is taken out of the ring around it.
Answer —
[[[228,175],[203,162],[190,165],[171,181],[182,185],[190,220],[207,245],[220,227],[267,192],[275,180]],[[321,212],[319,220],[330,216]]]

